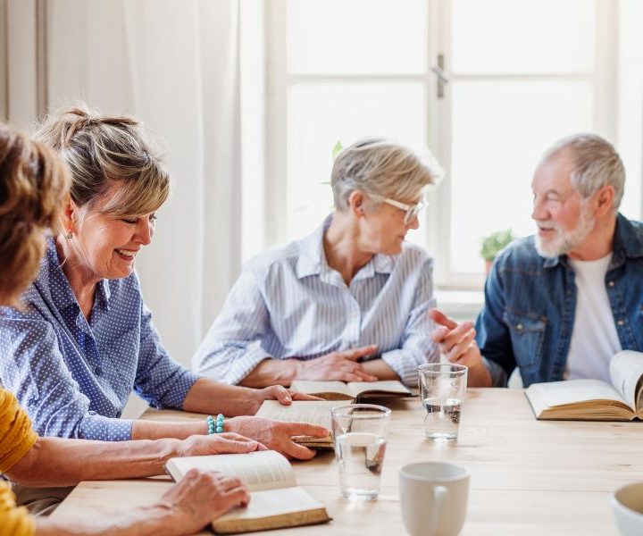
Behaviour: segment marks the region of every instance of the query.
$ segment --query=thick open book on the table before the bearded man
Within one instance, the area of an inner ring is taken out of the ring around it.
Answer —
[[[612,384],[600,380],[534,383],[525,390],[537,419],[643,419],[643,353],[623,350],[610,362]]]

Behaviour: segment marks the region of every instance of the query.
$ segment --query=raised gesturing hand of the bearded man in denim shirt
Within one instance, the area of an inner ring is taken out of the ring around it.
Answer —
[[[438,345],[440,353],[451,363],[469,367],[469,387],[489,387],[491,375],[482,361],[480,348],[475,341],[476,331],[473,323],[458,324],[438,309],[430,309],[429,317],[438,324],[438,328],[431,333],[431,340]]]

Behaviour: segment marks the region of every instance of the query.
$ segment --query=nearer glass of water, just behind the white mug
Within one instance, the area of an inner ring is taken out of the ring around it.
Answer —
[[[374,500],[380,494],[390,413],[374,404],[332,408],[339,489],[345,498]]]

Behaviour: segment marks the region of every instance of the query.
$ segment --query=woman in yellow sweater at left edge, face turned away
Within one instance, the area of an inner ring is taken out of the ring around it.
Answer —
[[[58,225],[68,188],[67,168],[51,150],[0,123],[0,306],[15,306],[36,276],[46,233]],[[263,445],[234,433],[116,443],[40,438],[13,394],[0,388],[0,473],[30,486],[149,476],[163,473],[173,456],[257,448]],[[16,507],[0,480],[0,536],[191,534],[248,499],[238,479],[193,471],[152,507],[91,521],[34,519]]]

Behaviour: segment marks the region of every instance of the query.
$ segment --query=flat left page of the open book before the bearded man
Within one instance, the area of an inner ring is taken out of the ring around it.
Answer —
[[[616,390],[600,380],[566,380],[533,383],[527,389],[546,407],[578,404],[589,400],[615,400],[624,403]]]

